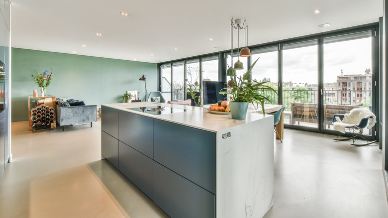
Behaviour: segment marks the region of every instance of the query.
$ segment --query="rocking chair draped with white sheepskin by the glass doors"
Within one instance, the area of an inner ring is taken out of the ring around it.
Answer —
[[[350,110],[350,112],[346,114],[334,114],[332,122],[334,125],[334,129],[339,131],[337,138],[335,138],[334,140],[346,141],[352,139],[353,142],[350,144],[355,146],[364,146],[376,142],[376,140],[368,141],[362,135],[364,128],[370,129],[376,123],[376,116],[369,109],[355,108]],[[346,132],[351,133],[351,136],[344,139],[338,139],[340,135]],[[356,144],[355,141],[358,137],[366,140],[367,143]]]

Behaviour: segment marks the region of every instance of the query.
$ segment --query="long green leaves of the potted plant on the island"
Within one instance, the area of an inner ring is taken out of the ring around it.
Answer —
[[[249,78],[252,78],[251,71],[258,60],[259,58],[252,64],[243,77],[237,77],[236,71],[228,65],[230,81],[228,82],[228,87],[222,89],[219,94],[229,95],[234,102],[249,102],[255,109],[258,109],[258,105],[260,104],[263,109],[263,114],[265,114],[265,101],[271,102],[269,96],[265,96],[265,92],[270,90],[276,93],[276,90],[270,86],[264,85],[265,83],[268,83],[268,81],[257,82],[256,80],[249,80]]]

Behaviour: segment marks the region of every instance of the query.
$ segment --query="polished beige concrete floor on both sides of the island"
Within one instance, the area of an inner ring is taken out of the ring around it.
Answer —
[[[285,130],[275,144],[274,206],[265,218],[387,218],[378,145]],[[100,124],[28,132],[12,123],[12,163],[0,181],[0,218],[164,218],[106,160]]]

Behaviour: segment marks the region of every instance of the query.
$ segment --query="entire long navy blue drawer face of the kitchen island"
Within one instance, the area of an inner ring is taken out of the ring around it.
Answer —
[[[102,156],[170,217],[215,217],[215,133],[101,110]]]

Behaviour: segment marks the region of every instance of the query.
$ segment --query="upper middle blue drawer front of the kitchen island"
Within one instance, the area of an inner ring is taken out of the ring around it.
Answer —
[[[119,111],[118,120],[118,139],[153,158],[153,118]]]

